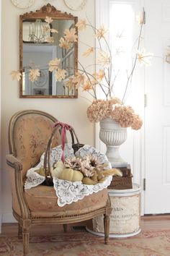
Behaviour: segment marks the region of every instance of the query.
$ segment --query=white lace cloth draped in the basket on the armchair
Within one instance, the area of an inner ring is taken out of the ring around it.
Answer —
[[[55,147],[50,152],[50,164],[51,166],[56,161],[61,161],[62,155],[61,145]],[[65,158],[73,157],[73,148],[71,147],[71,143],[66,143],[65,145]],[[82,158],[86,155],[93,155],[97,157],[97,159],[101,163],[106,163],[106,168],[112,168],[111,164],[107,160],[107,156],[99,152],[96,148],[91,147],[90,145],[84,145],[83,148],[80,148],[76,152],[76,157],[81,156]],[[32,187],[36,187],[42,182],[45,181],[45,177],[37,174],[36,170],[43,166],[44,161],[44,153],[40,158],[40,163],[35,168],[30,168],[27,171],[27,181],[24,184],[25,189],[30,189]],[[53,178],[54,189],[56,195],[58,197],[58,205],[64,206],[66,204],[71,204],[71,202],[76,202],[78,200],[83,199],[86,195],[91,195],[93,192],[98,192],[109,186],[112,182],[112,176],[107,176],[107,178],[102,183],[98,183],[96,185],[85,185],[82,182],[68,182],[63,179]]]

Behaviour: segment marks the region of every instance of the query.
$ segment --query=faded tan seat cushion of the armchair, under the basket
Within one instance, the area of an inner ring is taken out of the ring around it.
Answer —
[[[108,198],[107,189],[102,189],[97,193],[85,196],[82,200],[60,207],[53,187],[39,185],[31,189],[25,189],[24,195],[28,207],[32,211],[32,216],[39,217],[89,213],[105,207]]]

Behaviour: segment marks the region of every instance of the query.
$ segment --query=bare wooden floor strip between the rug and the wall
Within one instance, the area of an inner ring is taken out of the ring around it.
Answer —
[[[75,223],[72,224],[71,226],[84,226],[86,225],[85,223]],[[71,229],[71,226],[68,226],[68,230]],[[16,236],[17,235],[17,223],[3,223],[1,227],[1,234],[6,235],[6,236]],[[143,231],[148,231],[148,230],[166,230],[170,229],[170,215],[161,215],[161,216],[143,216],[141,217],[141,229]],[[32,226],[30,230],[31,235],[53,235],[56,234],[56,232],[63,232],[63,226],[58,225],[58,226]]]

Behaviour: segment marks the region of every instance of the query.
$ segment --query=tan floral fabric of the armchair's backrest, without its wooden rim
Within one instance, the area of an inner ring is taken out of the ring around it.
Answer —
[[[14,127],[14,148],[17,158],[23,163],[23,177],[27,169],[40,160],[53,129],[53,121],[40,114],[20,116]],[[53,145],[61,144],[61,135],[55,137]]]

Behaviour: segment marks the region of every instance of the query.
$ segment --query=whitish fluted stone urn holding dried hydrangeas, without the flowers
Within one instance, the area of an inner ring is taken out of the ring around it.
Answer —
[[[100,121],[99,138],[107,146],[107,158],[112,167],[127,167],[119,153],[120,145],[127,139],[127,128],[121,127],[117,121],[106,118]]]

